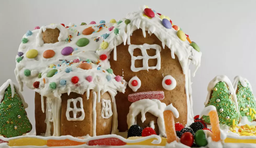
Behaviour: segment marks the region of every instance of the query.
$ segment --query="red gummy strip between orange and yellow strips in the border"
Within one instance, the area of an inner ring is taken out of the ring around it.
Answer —
[[[126,145],[126,143],[117,138],[103,138],[97,140],[90,140],[87,143],[88,145],[111,145],[111,146],[121,146]]]

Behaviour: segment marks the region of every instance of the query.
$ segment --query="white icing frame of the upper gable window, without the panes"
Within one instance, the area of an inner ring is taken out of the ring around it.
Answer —
[[[141,50],[142,56],[133,56],[133,51],[136,48]],[[147,49],[155,49],[156,50],[156,55],[149,56],[147,54]],[[133,72],[138,72],[140,70],[149,70],[149,69],[160,70],[160,68],[161,68],[161,56],[160,56],[161,46],[159,46],[158,44],[146,44],[146,43],[143,44],[143,45],[131,44],[128,47],[128,51],[129,51],[129,53],[132,57],[131,70]],[[156,66],[150,66],[149,67],[149,64],[148,64],[149,59],[157,59]],[[143,60],[143,67],[135,67],[135,60]]]

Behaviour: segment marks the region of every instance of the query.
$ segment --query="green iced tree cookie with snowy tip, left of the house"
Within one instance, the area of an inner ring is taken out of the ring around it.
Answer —
[[[27,104],[16,93],[11,80],[0,87],[0,96],[0,135],[9,138],[30,132],[32,125],[24,107]]]

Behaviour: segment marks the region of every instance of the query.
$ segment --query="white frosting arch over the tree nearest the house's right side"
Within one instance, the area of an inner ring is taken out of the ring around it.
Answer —
[[[239,113],[239,110],[238,110],[238,103],[237,103],[237,98],[236,98],[236,91],[231,83],[231,81],[229,80],[229,78],[227,78],[227,76],[225,75],[218,75],[216,76],[211,82],[209,82],[209,85],[208,85],[208,94],[207,94],[207,97],[206,97],[206,101],[204,102],[204,105],[207,105],[209,100],[210,100],[210,96],[212,94],[212,90],[213,88],[215,87],[215,85],[219,82],[225,82],[227,84],[227,86],[229,87],[229,91],[232,93],[232,101],[234,102],[235,106],[236,106],[236,110],[237,112]]]

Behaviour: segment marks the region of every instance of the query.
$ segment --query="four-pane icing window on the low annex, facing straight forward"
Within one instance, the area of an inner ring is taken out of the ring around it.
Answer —
[[[83,99],[78,97],[76,99],[67,100],[66,117],[68,121],[82,121],[84,119]]]

